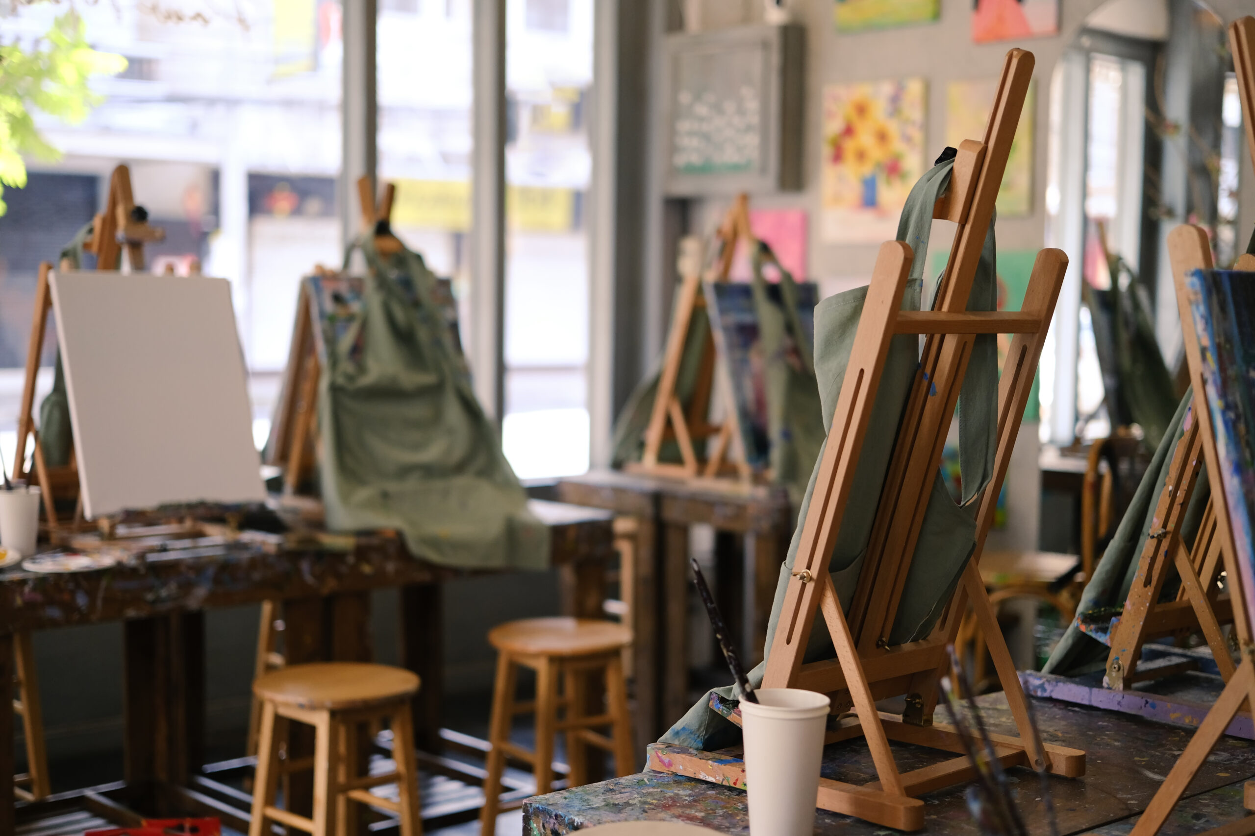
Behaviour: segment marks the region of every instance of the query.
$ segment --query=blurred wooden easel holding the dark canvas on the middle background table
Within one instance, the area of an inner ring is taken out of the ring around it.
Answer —
[[[705,271],[705,280],[725,282],[728,281],[728,274],[732,272],[737,243],[743,241],[750,253],[753,253],[753,248],[757,246],[754,234],[749,228],[748,196],[740,194],[733,201],[724,216],[723,223],[719,224],[715,241],[718,242],[718,248],[709,269]],[[753,473],[745,461],[744,451],[737,457],[735,462],[728,461],[729,447],[732,445],[739,446],[742,437],[737,409],[732,401],[730,392],[728,394],[729,397],[724,410],[727,415],[723,422],[709,422],[710,394],[714,389],[715,370],[715,347],[712,335],[707,335],[702,347],[702,361],[688,411],[680,404],[680,399],[675,391],[693,315],[698,308],[707,306],[705,296],[702,292],[703,268],[700,256],[694,257],[692,253],[683,253],[679,266],[681,274],[680,292],[675,298],[675,311],[671,313],[671,328],[668,332],[666,350],[663,353],[663,370],[659,376],[649,425],[645,430],[645,449],[641,460],[628,462],[624,470],[629,473],[681,478],[720,476],[730,470],[742,480],[749,480],[753,478]],[[714,449],[709,451],[707,460],[703,462],[698,459],[693,441],[712,436],[715,439]],[[681,464],[659,461],[663,444],[670,439],[675,439],[675,444],[680,449]]]

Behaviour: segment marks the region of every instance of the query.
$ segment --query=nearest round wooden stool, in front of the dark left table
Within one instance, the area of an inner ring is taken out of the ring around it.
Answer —
[[[254,682],[252,692],[261,701],[261,734],[248,836],[270,833],[267,822],[314,836],[339,836],[349,828],[349,801],[390,810],[400,816],[402,836],[419,836],[423,820],[409,713],[418,684],[418,677],[409,671],[354,662],[296,664]],[[279,741],[287,739],[286,727],[292,719],[314,727],[314,761],[285,768],[279,762]],[[383,719],[392,722],[397,771],[353,775],[358,727]],[[280,771],[297,772],[311,766],[314,817],[275,807]],[[369,792],[384,783],[397,785],[399,803]]]

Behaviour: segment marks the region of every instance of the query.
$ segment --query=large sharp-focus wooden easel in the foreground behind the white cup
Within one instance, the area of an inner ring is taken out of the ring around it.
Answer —
[[[1060,251],[1043,249],[1033,267],[1022,311],[966,312],[1033,63],[1032,53],[1019,49],[1008,53],[984,142],[969,139],[960,145],[949,191],[934,209],[935,217],[959,224],[934,310],[900,310],[914,254],[907,244],[897,241],[880,249],[828,444],[802,521],[799,548],[763,679],[764,688],[804,688],[830,694],[835,714],[853,709],[855,717],[838,719],[835,727],[830,724],[825,741],[863,737],[880,781],[857,786],[821,778],[818,806],[899,830],[924,826],[924,802],[912,796],[968,781],[975,775],[966,755],[904,773],[890,748],[890,741],[900,741],[966,752],[958,731],[934,724],[931,717],[940,679],[949,672],[946,645],[955,639],[968,599],[986,635],[1018,729],[1018,736],[990,736],[998,758],[1005,766],[1033,766],[1069,777],[1084,772],[1084,752],[1044,746],[1034,729],[978,567],[1067,268],[1067,256]],[[899,427],[858,587],[847,613],[837,599],[828,562],[853,485],[890,341],[900,333],[922,333],[926,341]],[[886,637],[897,614],[930,488],[978,333],[1013,333],[1014,337],[999,381],[998,446],[993,479],[980,498],[975,549],[959,590],[932,633],[919,642],[890,647]],[[836,659],[803,664],[803,652],[818,612],[823,613],[836,647]],[[876,701],[899,696],[906,698],[902,714],[877,711]],[[684,766],[680,765],[681,771]],[[729,765],[724,772],[732,768]]]

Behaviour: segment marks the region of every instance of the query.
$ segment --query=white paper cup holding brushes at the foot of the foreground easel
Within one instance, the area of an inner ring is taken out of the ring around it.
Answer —
[[[799,688],[759,688],[740,701],[752,836],[814,831],[828,698]]]

